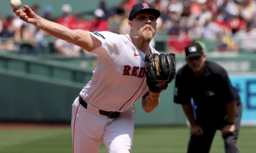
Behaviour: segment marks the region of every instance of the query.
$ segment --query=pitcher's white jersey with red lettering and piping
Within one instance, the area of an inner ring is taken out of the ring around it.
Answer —
[[[124,112],[140,99],[148,87],[145,80],[145,54],[129,35],[93,32],[102,46],[92,50],[98,66],[80,95],[90,105],[104,111]],[[151,46],[151,53],[158,53]]]

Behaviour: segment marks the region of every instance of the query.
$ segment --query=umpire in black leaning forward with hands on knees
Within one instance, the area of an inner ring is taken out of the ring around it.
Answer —
[[[186,65],[176,74],[174,101],[182,105],[190,123],[187,152],[209,152],[217,130],[221,130],[225,152],[239,152],[242,105],[226,70],[206,60],[200,43],[186,46],[185,54]]]

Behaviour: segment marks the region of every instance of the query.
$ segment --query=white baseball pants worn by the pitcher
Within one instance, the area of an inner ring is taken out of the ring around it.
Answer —
[[[101,141],[110,153],[129,153],[134,135],[134,107],[117,118],[108,118],[90,112],[78,99],[72,106],[73,153],[97,153]]]

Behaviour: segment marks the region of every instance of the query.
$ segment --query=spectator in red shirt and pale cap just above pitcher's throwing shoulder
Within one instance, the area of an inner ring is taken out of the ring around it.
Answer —
[[[102,9],[96,9],[94,11],[94,16],[95,18],[92,19],[89,23],[89,31],[108,31],[109,24],[102,18],[104,16],[104,11]]]

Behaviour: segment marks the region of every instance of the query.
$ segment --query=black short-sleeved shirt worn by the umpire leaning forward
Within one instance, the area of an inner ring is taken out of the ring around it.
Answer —
[[[221,123],[225,115],[226,104],[237,99],[236,90],[231,86],[224,68],[214,62],[206,61],[202,78],[184,65],[176,74],[174,101],[177,104],[190,104],[193,98],[197,105],[197,121],[204,123]]]

